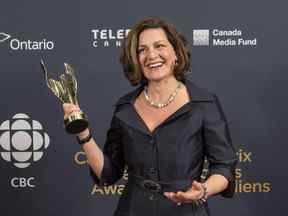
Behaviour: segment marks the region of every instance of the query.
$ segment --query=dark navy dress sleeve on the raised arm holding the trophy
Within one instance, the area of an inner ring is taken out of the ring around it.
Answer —
[[[90,175],[98,185],[110,185],[119,180],[124,173],[122,132],[119,120],[113,115],[103,148],[104,164],[100,178],[89,166]]]

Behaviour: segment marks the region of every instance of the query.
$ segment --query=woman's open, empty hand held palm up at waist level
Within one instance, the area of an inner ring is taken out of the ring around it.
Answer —
[[[192,203],[196,200],[201,199],[203,196],[204,190],[200,182],[193,181],[191,188],[185,192],[177,191],[177,192],[165,192],[164,196],[168,199],[176,202],[177,204],[181,203]]]

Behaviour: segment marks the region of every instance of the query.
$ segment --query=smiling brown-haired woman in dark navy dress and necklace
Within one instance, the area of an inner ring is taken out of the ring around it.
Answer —
[[[209,215],[207,198],[232,197],[236,155],[217,97],[196,87],[185,39],[160,19],[129,32],[121,63],[136,90],[115,105],[103,152],[77,135],[97,184],[128,182],[114,215]],[[64,104],[65,116],[80,108]],[[209,172],[200,182],[205,157]]]

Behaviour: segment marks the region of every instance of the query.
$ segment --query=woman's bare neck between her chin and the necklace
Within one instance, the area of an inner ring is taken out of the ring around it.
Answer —
[[[148,82],[148,95],[153,101],[166,101],[170,94],[177,88],[178,80],[171,76],[161,81]]]

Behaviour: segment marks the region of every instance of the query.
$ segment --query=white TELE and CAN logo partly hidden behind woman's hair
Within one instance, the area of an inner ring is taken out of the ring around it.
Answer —
[[[92,46],[100,47],[121,47],[123,40],[127,36],[130,29],[108,29],[97,28],[91,30]]]

